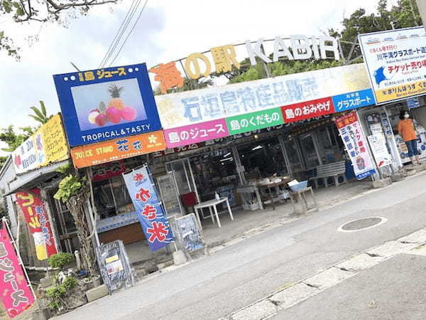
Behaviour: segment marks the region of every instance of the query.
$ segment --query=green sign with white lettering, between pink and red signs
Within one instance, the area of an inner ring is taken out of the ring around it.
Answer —
[[[278,126],[283,123],[283,113],[280,108],[240,114],[235,117],[226,118],[229,135]]]

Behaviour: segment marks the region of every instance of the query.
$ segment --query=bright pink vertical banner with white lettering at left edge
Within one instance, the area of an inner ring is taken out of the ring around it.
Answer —
[[[7,314],[14,318],[34,303],[33,292],[29,287],[11,238],[3,221],[0,230],[0,299]]]

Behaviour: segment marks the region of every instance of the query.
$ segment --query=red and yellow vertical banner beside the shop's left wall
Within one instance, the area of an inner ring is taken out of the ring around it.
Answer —
[[[16,193],[16,202],[18,202],[33,235],[37,259],[46,260],[51,255],[58,253],[48,213],[46,213],[43,200],[41,200],[40,189],[33,188],[30,193]]]

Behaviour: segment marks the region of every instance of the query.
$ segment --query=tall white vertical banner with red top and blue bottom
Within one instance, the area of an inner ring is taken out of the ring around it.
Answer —
[[[361,131],[361,124],[355,112],[336,119],[337,129],[344,142],[347,153],[354,166],[356,178],[364,179],[376,173],[371,156],[368,154],[366,139]]]

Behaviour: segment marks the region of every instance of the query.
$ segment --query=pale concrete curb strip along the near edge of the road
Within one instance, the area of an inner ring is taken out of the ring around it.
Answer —
[[[349,260],[338,262],[306,279],[296,282],[284,289],[280,289],[253,304],[249,304],[220,320],[261,320],[269,319],[278,311],[288,309],[295,304],[309,299],[353,277],[362,270],[366,270],[378,263],[394,257],[400,253],[412,255],[426,255],[426,228],[405,235],[398,240],[385,242],[383,245],[371,247]]]

